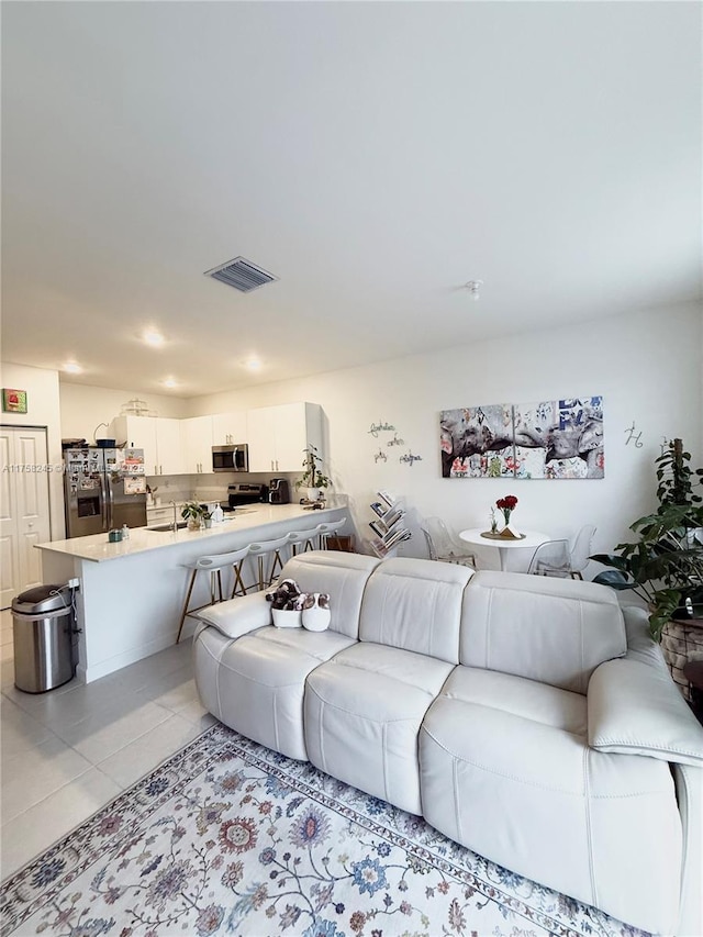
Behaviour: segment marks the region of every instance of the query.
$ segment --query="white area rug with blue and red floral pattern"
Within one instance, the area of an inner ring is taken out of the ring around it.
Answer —
[[[2,935],[641,932],[221,725],[3,883]]]

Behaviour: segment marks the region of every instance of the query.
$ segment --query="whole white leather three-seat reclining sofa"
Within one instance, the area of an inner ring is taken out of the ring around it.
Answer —
[[[327,631],[263,593],[204,610],[203,705],[422,814],[526,878],[660,934],[703,934],[703,728],[647,635],[591,582],[309,553]]]

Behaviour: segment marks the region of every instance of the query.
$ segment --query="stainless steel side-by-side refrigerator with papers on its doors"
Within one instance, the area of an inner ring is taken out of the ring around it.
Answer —
[[[143,449],[66,449],[64,462],[67,537],[146,525]]]

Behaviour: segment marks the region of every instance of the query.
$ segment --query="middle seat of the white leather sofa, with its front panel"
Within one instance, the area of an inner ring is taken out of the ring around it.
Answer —
[[[315,767],[410,813],[421,812],[417,730],[451,665],[361,643],[321,665],[305,689]]]

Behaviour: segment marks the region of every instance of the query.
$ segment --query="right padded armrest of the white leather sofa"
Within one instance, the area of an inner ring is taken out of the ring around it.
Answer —
[[[703,766],[703,727],[666,669],[641,660],[606,660],[588,687],[589,745]]]

